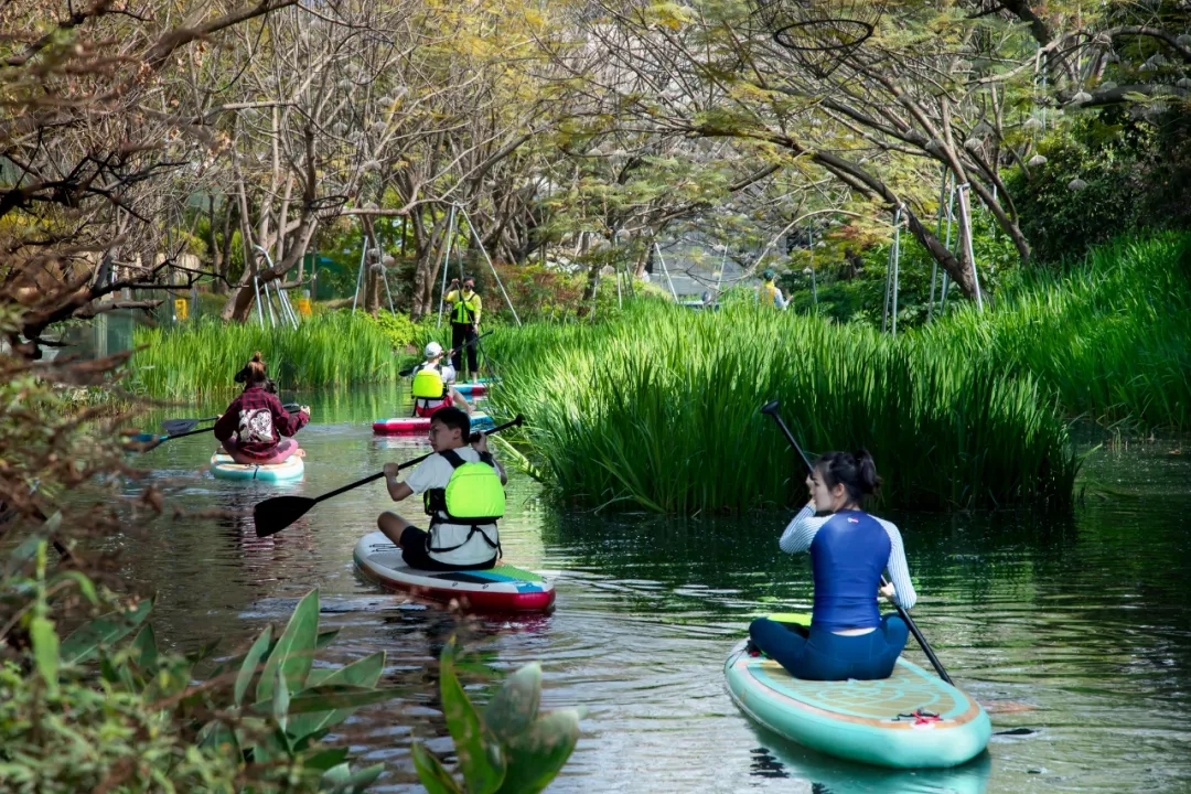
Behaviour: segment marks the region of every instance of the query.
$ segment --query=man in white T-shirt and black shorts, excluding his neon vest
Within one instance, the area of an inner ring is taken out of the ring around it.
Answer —
[[[507,479],[504,467],[488,451],[484,433],[468,446],[470,419],[459,408],[441,408],[430,420],[430,446],[435,455],[423,461],[404,482],[397,481],[398,464],[385,464],[385,483],[393,501],[401,501],[413,494],[445,489],[455,473],[455,465],[443,454],[457,456],[466,463],[487,463],[503,487]],[[491,484],[491,483],[490,483]],[[494,487],[494,484],[492,486]],[[376,519],[376,525],[389,540],[401,548],[405,564],[420,570],[481,570],[497,564],[500,537],[495,521],[461,524],[448,520],[441,504],[429,504],[430,531],[413,526],[397,513],[386,511]],[[503,495],[501,495],[503,505]]]

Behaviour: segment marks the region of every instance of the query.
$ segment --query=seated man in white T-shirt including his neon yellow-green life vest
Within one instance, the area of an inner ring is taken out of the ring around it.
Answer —
[[[423,531],[393,512],[384,512],[376,525],[401,548],[401,557],[420,570],[484,570],[500,557],[497,520],[505,514],[505,470],[480,433],[468,445],[470,420],[459,408],[442,408],[430,420],[430,448],[404,482],[399,465],[385,464],[385,484],[393,501],[423,494],[430,531]]]

